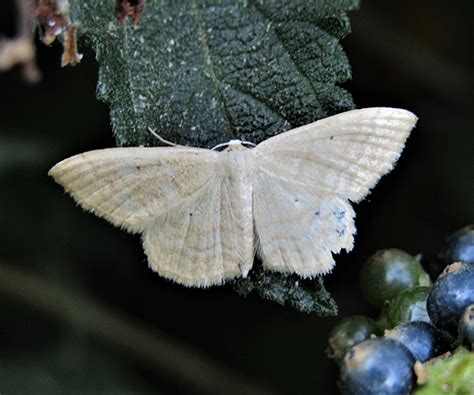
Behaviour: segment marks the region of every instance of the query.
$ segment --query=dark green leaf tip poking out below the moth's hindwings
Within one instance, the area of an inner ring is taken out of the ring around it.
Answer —
[[[269,272],[255,265],[246,278],[234,280],[232,286],[242,296],[255,290],[264,299],[305,313],[337,315],[337,304],[324,288],[321,277],[303,280],[294,274]]]

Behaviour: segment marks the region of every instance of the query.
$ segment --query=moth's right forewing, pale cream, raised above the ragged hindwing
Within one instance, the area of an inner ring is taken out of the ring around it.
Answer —
[[[416,120],[398,108],[346,111],[260,143],[258,168],[359,202],[393,168]]]

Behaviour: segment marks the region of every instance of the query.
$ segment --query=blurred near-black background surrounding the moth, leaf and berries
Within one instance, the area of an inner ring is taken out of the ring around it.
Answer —
[[[132,328],[145,325],[147,339],[178,342],[189,355],[177,358],[183,372],[204,355],[275,393],[336,393],[337,368],[324,353],[330,328],[377,314],[358,288],[364,259],[398,247],[428,264],[444,236],[474,222],[474,3],[450,4],[365,0],[350,15],[345,87],[357,106],[406,108],[420,120],[395,170],[356,206],[355,249],[337,257],[326,282],[340,307],[334,318],[242,298],[229,286],[163,280],[147,268],[138,236],[83,212],[48,178],[63,158],[114,146],[91,51],[81,48],[83,62],[61,69],[60,46],[38,45],[37,85],[18,70],[0,74],[0,392],[198,392],[121,337],[103,314],[113,311]],[[2,7],[0,32],[12,35],[12,2]],[[67,314],[47,311],[58,303]],[[83,309],[96,304],[91,319]],[[153,354],[153,344],[143,348]]]

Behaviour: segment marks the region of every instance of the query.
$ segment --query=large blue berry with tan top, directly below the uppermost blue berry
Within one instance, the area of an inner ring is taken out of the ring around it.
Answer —
[[[474,265],[456,262],[444,269],[428,295],[428,314],[438,328],[457,336],[467,306],[474,303]]]

